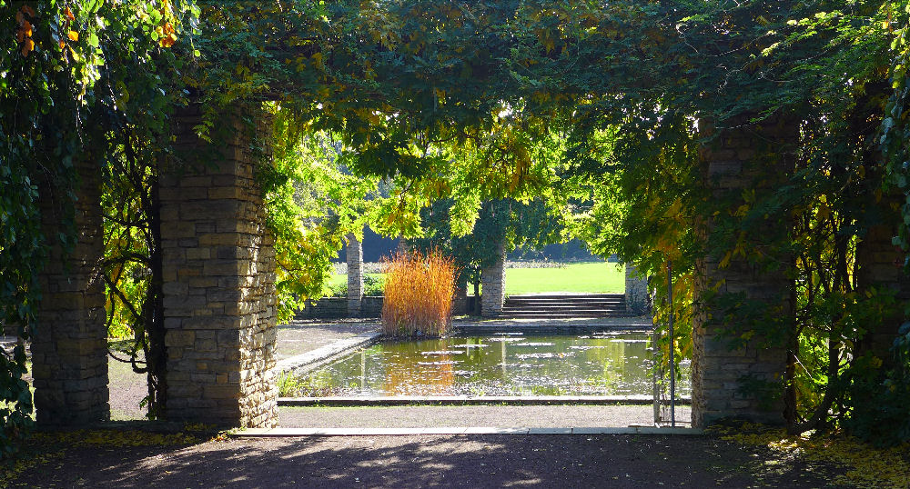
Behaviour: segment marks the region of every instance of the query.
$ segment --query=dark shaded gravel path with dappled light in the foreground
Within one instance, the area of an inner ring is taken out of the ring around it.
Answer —
[[[333,436],[73,448],[10,485],[809,488],[842,472],[711,436]]]

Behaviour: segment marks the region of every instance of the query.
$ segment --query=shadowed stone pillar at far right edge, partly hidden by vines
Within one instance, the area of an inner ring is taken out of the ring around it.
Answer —
[[[884,211],[884,210],[883,210]],[[883,212],[885,214],[885,212]],[[895,214],[895,213],[892,213]],[[897,301],[895,310],[885,314],[880,324],[865,324],[869,330],[856,344],[856,355],[866,352],[887,362],[897,330],[907,319],[903,305],[910,301],[910,277],[904,273],[904,252],[891,243],[895,227],[874,225],[856,245],[856,282],[861,290],[875,287],[878,292],[891,291]]]

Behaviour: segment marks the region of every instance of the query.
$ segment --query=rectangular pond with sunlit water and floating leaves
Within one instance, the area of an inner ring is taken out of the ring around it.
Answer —
[[[282,395],[652,395],[650,333],[386,341],[281,381]],[[689,395],[687,365],[678,394]]]

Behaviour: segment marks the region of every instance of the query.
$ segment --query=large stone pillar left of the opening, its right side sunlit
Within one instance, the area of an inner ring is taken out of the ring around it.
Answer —
[[[268,427],[278,423],[275,252],[254,179],[268,155],[250,149],[261,145],[233,110],[217,145],[193,133],[197,106],[177,115],[184,159],[160,177],[167,418]]]

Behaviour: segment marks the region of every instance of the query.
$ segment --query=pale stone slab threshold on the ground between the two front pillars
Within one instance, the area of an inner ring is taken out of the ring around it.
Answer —
[[[402,436],[419,434],[672,434],[700,435],[697,428],[628,427],[568,427],[568,428],[494,428],[427,427],[427,428],[248,428],[235,438],[293,438],[300,436]]]

